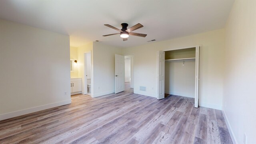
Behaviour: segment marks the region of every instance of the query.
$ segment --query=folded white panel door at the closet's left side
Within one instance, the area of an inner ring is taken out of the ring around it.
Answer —
[[[158,51],[158,94],[157,99],[164,98],[164,66],[165,66],[165,57],[163,51]]]

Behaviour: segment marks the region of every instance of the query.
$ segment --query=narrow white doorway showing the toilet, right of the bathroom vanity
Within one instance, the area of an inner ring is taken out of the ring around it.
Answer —
[[[92,94],[92,55],[84,53],[84,94]]]

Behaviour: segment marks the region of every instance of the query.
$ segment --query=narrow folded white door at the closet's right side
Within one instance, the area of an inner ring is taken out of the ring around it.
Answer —
[[[195,80],[195,107],[198,108],[199,97],[199,61],[200,61],[200,47],[196,46],[196,80]]]

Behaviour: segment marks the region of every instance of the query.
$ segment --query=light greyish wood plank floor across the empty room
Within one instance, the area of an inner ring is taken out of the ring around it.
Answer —
[[[0,121],[0,144],[232,144],[220,110],[194,108],[194,99],[134,94],[91,98]]]

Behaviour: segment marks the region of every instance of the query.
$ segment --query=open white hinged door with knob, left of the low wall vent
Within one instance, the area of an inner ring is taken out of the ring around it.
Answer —
[[[124,91],[124,56],[115,54],[115,93]]]

